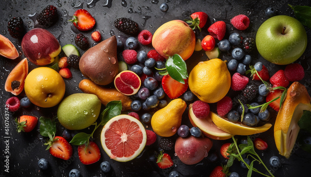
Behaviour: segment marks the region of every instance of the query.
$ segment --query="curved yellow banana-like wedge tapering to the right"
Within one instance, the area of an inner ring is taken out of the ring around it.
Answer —
[[[211,120],[221,130],[231,133],[233,135],[253,135],[267,131],[272,125],[267,123],[260,127],[252,127],[243,124],[242,122],[230,122],[227,118],[222,117],[210,111]]]

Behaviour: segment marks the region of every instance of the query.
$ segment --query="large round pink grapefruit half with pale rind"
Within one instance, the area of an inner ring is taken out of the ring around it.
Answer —
[[[119,162],[127,162],[142,152],[146,145],[147,135],[139,120],[122,114],[106,123],[100,138],[110,158]]]

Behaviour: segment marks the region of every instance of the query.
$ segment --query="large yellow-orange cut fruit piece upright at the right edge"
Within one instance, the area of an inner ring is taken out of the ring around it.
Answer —
[[[304,110],[311,110],[310,96],[305,86],[294,82],[289,87],[284,102],[276,116],[274,139],[282,156],[290,157],[300,127],[298,121]]]

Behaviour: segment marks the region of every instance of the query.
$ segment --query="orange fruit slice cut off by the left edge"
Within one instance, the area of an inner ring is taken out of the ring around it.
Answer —
[[[19,54],[13,43],[6,37],[0,34],[0,55],[9,58],[16,59]]]

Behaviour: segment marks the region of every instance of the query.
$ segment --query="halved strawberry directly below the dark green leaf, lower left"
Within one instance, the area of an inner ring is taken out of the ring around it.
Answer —
[[[52,156],[68,160],[72,156],[72,146],[61,136],[55,136],[49,148]]]

